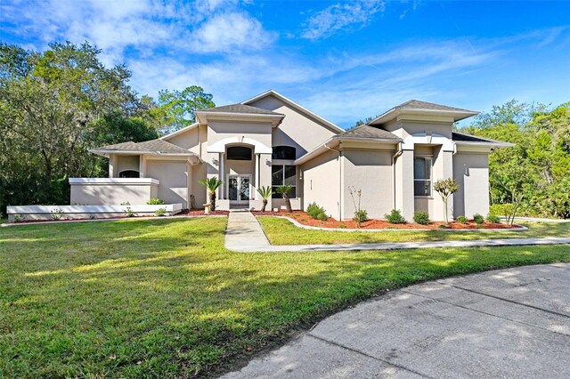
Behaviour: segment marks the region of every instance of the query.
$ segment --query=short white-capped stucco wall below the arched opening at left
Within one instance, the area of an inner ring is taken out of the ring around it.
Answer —
[[[151,178],[69,178],[69,185],[71,205],[143,205],[159,193],[159,181]]]

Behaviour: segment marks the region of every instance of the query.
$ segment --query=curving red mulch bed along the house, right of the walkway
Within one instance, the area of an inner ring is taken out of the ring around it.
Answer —
[[[321,220],[314,220],[313,217],[306,214],[303,211],[293,211],[289,214],[285,211],[281,212],[259,212],[254,211],[252,214],[256,216],[285,216],[289,217],[303,225],[316,226],[320,228],[338,228],[340,225],[345,225],[346,229],[357,229],[356,222],[353,220],[346,220],[344,222],[339,222],[333,218],[329,218],[326,222]],[[444,225],[445,222],[431,222],[429,225],[420,225],[415,222],[406,223],[389,223],[386,220],[368,220],[361,223],[361,229],[425,229],[425,230],[440,230],[440,229],[517,229],[517,225],[508,225],[506,223],[493,223],[493,222],[483,222],[481,225],[477,225],[473,220],[469,220],[468,223],[460,222],[450,222],[446,228],[440,228],[439,225]]]

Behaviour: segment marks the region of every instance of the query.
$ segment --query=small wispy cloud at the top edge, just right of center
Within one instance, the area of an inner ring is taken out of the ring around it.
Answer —
[[[371,22],[376,13],[384,10],[385,3],[381,0],[333,4],[309,18],[301,36],[319,39],[329,37],[341,28],[362,28]]]

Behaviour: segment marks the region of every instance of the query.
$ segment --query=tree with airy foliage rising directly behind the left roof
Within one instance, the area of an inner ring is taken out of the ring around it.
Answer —
[[[199,85],[191,85],[183,91],[162,90],[159,92],[158,109],[152,113],[162,118],[162,133],[172,133],[196,121],[198,109],[216,107],[212,94],[205,93]]]

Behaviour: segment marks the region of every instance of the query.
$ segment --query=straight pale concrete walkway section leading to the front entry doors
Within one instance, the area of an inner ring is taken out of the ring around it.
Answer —
[[[248,248],[269,248],[269,239],[249,211],[231,211],[225,230],[225,247],[233,251],[249,251]],[[246,248],[246,250],[240,250]],[[262,250],[263,251],[263,250]]]

